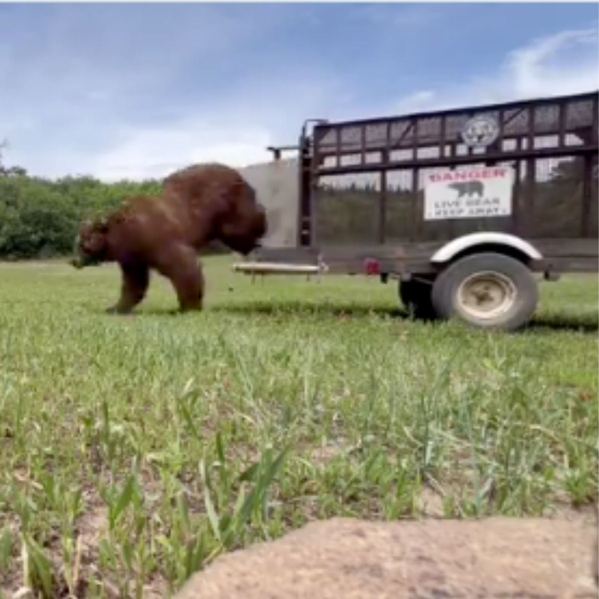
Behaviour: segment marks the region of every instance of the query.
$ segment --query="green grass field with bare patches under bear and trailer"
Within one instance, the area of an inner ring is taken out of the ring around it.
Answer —
[[[309,519],[541,515],[597,500],[597,277],[533,325],[412,322],[362,277],[252,285],[205,261],[174,316],[155,277],[0,265],[0,588],[167,596]]]

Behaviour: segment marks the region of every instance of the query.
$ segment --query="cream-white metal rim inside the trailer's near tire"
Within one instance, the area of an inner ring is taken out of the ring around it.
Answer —
[[[456,294],[459,310],[477,320],[491,320],[509,311],[518,292],[512,280],[495,271],[472,274]]]

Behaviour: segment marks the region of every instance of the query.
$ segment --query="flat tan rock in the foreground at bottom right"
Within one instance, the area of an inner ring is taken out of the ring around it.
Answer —
[[[579,519],[314,522],[217,559],[177,599],[591,599]]]

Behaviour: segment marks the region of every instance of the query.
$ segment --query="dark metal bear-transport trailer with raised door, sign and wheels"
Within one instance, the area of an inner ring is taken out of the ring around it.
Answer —
[[[597,272],[598,97],[307,121],[241,170],[268,233],[234,270],[395,279],[417,317],[519,328],[534,273]]]

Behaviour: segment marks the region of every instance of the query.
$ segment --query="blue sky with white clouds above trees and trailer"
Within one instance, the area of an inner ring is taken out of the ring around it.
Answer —
[[[6,165],[243,167],[305,119],[599,88],[596,3],[0,4]]]

